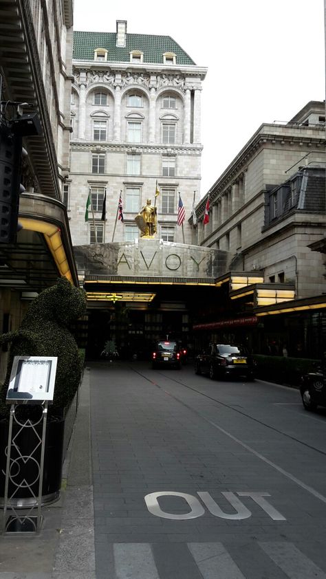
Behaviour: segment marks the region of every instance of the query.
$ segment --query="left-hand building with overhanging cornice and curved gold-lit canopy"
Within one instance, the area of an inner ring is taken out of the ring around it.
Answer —
[[[19,327],[38,292],[67,276],[78,284],[63,196],[69,168],[72,0],[8,0],[0,19],[1,124],[36,114],[25,135],[17,243],[0,244],[0,329]],[[8,353],[1,352],[0,379]]]

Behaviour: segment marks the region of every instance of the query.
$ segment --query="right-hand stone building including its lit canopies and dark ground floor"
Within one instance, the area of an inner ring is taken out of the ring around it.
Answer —
[[[212,339],[250,338],[260,353],[287,344],[289,355],[300,341],[303,355],[321,356],[325,204],[325,102],[311,101],[290,122],[262,124],[197,205],[193,243],[230,258],[229,305],[202,309],[197,327],[215,317],[225,334]],[[234,330],[245,314],[254,325]]]

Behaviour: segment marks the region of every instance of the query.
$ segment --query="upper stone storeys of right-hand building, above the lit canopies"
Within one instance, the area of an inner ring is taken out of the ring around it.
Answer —
[[[229,251],[231,269],[293,281],[297,298],[325,292],[323,256],[309,249],[325,235],[325,102],[307,103],[286,124],[262,124],[197,215],[193,242]]]

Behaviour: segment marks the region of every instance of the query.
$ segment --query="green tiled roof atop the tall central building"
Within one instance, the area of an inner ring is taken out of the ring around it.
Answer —
[[[107,61],[111,63],[129,63],[130,52],[140,50],[144,54],[144,63],[163,64],[163,54],[174,52],[177,65],[195,65],[171,36],[127,34],[126,46],[122,48],[116,47],[115,32],[74,32],[74,59],[94,61],[96,48],[105,48]]]

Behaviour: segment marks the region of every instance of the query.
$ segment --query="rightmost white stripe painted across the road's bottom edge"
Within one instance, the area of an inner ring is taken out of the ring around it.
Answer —
[[[293,543],[261,542],[259,546],[290,579],[326,579],[322,569],[307,558]]]

